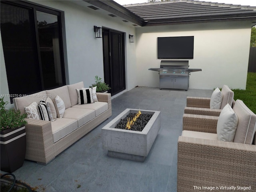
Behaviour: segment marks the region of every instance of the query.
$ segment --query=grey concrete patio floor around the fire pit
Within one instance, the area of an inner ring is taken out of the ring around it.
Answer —
[[[112,116],[52,162],[44,166],[25,160],[13,174],[42,192],[176,192],[186,97],[210,97],[212,91],[136,87],[113,98]],[[101,128],[126,108],[161,111],[161,128],[144,162],[111,158],[102,149]]]

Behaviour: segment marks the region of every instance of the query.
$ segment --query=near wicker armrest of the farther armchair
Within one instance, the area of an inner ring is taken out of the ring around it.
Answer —
[[[208,109],[198,107],[185,107],[184,113],[195,115],[220,116],[221,109]]]

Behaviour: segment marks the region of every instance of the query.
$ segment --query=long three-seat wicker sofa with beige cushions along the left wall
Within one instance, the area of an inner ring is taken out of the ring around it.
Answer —
[[[84,88],[83,82],[13,99],[14,108],[19,109],[22,114],[25,113],[25,107],[33,102],[38,104],[42,99],[48,101],[48,107],[57,96],[64,102],[62,118],[57,117],[52,121],[26,119],[28,124],[26,125],[25,159],[47,164],[112,115],[109,93],[96,93],[98,102],[78,104],[79,94],[76,89],[81,90],[81,88]],[[58,110],[56,111],[58,114]]]

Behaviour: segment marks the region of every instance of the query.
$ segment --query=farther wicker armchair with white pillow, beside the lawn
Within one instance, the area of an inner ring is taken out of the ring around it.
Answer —
[[[188,96],[187,106],[184,109],[184,113],[219,116],[221,110],[226,106],[226,104],[233,106],[234,92],[227,85],[224,85],[221,91],[218,91],[217,89],[214,90],[211,98]],[[222,95],[220,100],[218,99],[217,94]]]

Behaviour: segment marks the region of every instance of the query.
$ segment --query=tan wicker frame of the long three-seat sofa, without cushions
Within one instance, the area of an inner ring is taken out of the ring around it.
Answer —
[[[111,94],[96,94],[98,101],[108,103],[108,109],[57,142],[53,142],[52,126],[50,121],[27,119],[27,145],[25,159],[36,161],[40,164],[48,164],[58,154],[108,119],[112,115]]]

